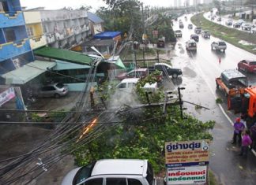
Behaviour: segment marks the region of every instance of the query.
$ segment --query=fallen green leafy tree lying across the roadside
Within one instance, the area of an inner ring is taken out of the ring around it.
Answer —
[[[141,88],[146,82],[154,82],[152,76],[137,83],[136,92],[141,102],[147,102],[145,91]],[[164,92],[149,95],[151,102],[163,102]],[[139,113],[138,113],[139,112]],[[162,107],[151,109],[127,109],[120,113],[120,120],[125,123],[111,127],[107,124],[104,134],[81,146],[74,152],[77,165],[102,158],[138,158],[148,159],[155,170],[164,169],[164,143],[169,141],[186,141],[196,139],[213,139],[209,129],[214,121],[201,122],[186,115],[182,120],[179,106],[168,106],[163,117]]]

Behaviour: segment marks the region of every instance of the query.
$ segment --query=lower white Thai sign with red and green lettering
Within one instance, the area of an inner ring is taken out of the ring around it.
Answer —
[[[168,168],[168,185],[205,183],[207,175],[206,166],[191,166]]]

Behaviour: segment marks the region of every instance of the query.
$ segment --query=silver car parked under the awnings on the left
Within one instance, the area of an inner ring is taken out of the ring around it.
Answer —
[[[40,88],[37,96],[40,98],[60,98],[68,94],[69,89],[63,83],[51,83]]]

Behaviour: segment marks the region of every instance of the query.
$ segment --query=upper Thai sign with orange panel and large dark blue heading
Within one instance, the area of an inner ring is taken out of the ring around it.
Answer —
[[[208,165],[209,140],[165,142],[165,163],[168,167]]]

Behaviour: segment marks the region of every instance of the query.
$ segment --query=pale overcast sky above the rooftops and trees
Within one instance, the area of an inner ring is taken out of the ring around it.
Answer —
[[[39,6],[45,7],[45,9],[61,9],[64,6],[78,8],[82,5],[92,6],[92,12],[95,12],[100,6],[106,4],[102,0],[20,0],[21,6],[26,6],[28,9],[36,8]],[[144,3],[144,6],[164,6],[170,7],[174,0],[140,0]],[[184,1],[184,0],[179,0]]]

